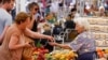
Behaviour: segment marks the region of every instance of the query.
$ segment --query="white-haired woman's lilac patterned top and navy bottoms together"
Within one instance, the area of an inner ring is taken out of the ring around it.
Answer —
[[[79,54],[78,60],[94,59],[96,45],[92,33],[87,31],[80,33],[69,46]]]

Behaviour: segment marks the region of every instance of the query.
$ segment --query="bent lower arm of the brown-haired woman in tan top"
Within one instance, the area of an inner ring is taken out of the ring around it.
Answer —
[[[17,34],[13,34],[9,43],[9,48],[18,49],[22,47],[30,47],[29,43],[19,44],[18,42],[19,42],[19,36]]]

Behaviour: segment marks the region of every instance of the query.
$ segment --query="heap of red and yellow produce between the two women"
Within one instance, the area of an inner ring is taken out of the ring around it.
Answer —
[[[75,54],[75,51],[68,49],[49,52],[48,49],[36,48],[32,57],[32,60],[72,60],[78,56]]]

